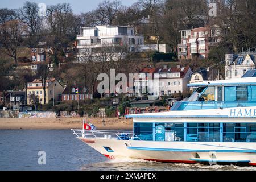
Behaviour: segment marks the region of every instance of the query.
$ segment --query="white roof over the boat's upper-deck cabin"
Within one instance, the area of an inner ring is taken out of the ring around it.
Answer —
[[[232,80],[203,81],[188,86],[216,86],[216,85],[256,85],[255,77],[236,78]]]

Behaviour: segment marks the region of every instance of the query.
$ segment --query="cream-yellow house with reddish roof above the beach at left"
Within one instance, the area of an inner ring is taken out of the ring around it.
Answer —
[[[64,87],[55,78],[46,80],[46,104],[52,99],[57,100],[63,93]],[[36,100],[40,104],[44,103],[44,91],[40,79],[35,79],[27,84],[27,104],[33,104]]]

